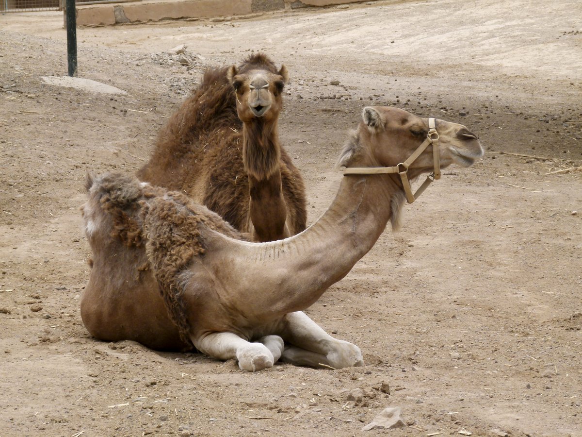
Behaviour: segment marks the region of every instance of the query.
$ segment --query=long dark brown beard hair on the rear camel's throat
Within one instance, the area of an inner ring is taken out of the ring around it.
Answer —
[[[276,121],[244,124],[244,170],[255,179],[267,179],[279,170],[281,146],[276,135]],[[249,146],[250,145],[250,146]]]

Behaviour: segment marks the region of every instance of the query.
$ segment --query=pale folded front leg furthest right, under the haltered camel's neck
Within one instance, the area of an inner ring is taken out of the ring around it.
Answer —
[[[324,365],[334,369],[364,365],[359,347],[334,339],[304,312],[286,314],[278,334],[286,342],[282,361],[298,366]]]

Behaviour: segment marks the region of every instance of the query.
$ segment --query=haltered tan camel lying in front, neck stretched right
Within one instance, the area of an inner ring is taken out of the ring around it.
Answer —
[[[462,125],[364,108],[342,151],[345,177],[331,206],[306,231],[266,243],[241,241],[182,193],[120,174],[88,178],[83,217],[94,265],[83,322],[102,340],[195,347],[236,359],[246,371],[280,358],[362,365],[357,346],[329,336],[301,310],[346,276],[388,221],[399,227],[405,198],[414,200],[409,180],[481,156],[477,137]]]

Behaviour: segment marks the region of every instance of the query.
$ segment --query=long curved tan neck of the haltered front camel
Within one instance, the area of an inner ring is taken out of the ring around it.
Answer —
[[[388,175],[344,177],[332,205],[307,230],[247,246],[262,287],[271,291],[244,297],[272,316],[306,309],[370,250],[400,200],[403,194]]]

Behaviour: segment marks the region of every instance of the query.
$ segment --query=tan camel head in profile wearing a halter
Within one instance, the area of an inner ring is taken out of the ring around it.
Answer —
[[[450,164],[469,167],[483,154],[477,136],[465,126],[436,119],[440,168]],[[428,136],[427,118],[395,107],[365,107],[362,120],[339,160],[342,167],[393,167],[404,163]],[[434,170],[432,145],[408,167],[415,179]]]

